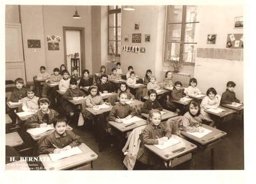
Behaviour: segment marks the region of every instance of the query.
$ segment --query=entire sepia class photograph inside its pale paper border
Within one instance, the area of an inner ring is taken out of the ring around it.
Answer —
[[[5,4],[5,170],[244,171],[245,15],[196,4]]]

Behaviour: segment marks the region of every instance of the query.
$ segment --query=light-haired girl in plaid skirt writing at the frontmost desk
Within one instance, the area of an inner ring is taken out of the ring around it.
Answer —
[[[171,138],[171,131],[161,123],[161,113],[159,110],[150,111],[147,125],[142,135],[143,143],[147,145],[163,145],[165,141]],[[139,148],[133,169],[156,169],[161,164],[163,164],[163,161],[143,145]]]

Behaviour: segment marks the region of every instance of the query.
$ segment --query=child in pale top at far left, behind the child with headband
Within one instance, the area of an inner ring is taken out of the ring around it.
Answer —
[[[22,99],[22,110],[24,112],[37,112],[39,110],[39,98],[35,96],[35,92],[35,86],[26,87],[26,97]]]

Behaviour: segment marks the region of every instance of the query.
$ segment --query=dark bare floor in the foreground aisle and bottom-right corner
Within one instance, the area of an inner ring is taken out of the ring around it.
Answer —
[[[123,164],[123,154],[117,146],[107,146],[98,152],[98,143],[90,128],[85,131],[71,125],[73,132],[82,137],[83,142],[98,154],[93,161],[94,170],[126,170]],[[220,130],[227,132],[226,138],[214,149],[214,169],[244,169],[244,125],[239,120],[225,122]],[[193,155],[193,169],[211,168],[211,151]],[[184,169],[184,168],[179,168]]]

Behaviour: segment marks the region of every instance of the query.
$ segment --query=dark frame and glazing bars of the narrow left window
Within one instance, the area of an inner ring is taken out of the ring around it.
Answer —
[[[118,16],[117,15],[118,15],[118,13],[122,13],[121,12],[122,8],[118,8],[118,5],[116,5],[116,9],[110,10],[110,6],[107,6],[107,8],[108,8],[108,11],[107,11],[107,55],[112,56],[112,53],[110,52],[110,44],[109,44],[112,41],[112,42],[116,43],[116,53],[114,53],[114,56],[119,56],[120,57],[120,54],[118,54],[118,28],[121,28],[121,26],[118,26],[118,22],[117,22],[118,21],[118,19],[117,19]],[[109,26],[109,16],[111,14],[116,14],[115,15],[115,25],[114,26]],[[121,16],[122,16],[122,14],[121,14]],[[110,40],[109,39],[109,29],[110,28],[116,28],[116,30],[115,30],[116,39],[115,40]],[[119,42],[121,43],[121,41],[122,41],[122,38],[120,39]]]

